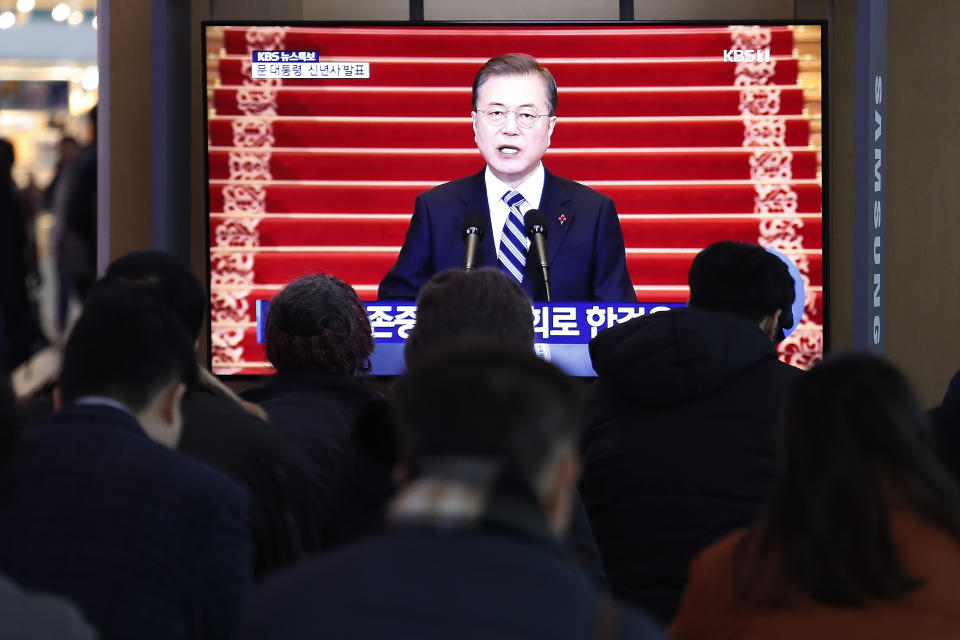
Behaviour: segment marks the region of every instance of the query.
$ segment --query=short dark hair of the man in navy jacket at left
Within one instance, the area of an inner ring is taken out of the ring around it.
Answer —
[[[100,281],[90,290],[64,348],[65,403],[107,396],[136,413],[165,385],[196,377],[193,341],[164,305],[125,283]]]

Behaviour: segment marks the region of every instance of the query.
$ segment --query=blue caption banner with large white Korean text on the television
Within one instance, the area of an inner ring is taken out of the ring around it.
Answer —
[[[411,302],[364,302],[373,329],[372,375],[400,375],[406,367],[403,345],[417,322],[417,306]],[[587,344],[609,327],[648,313],[683,307],[671,303],[535,302],[533,331],[536,351],[544,360],[570,375],[595,376]],[[269,300],[256,301],[257,342],[265,339]]]

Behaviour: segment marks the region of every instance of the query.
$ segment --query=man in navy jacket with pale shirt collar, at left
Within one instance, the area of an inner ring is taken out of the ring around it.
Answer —
[[[0,571],[76,602],[103,638],[229,638],[251,584],[243,490],[170,451],[196,371],[167,309],[96,285],[65,347],[65,407],[11,465]]]

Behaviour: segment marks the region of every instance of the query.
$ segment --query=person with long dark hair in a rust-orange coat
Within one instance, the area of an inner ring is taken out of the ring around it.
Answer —
[[[674,637],[960,637],[960,488],[931,442],[892,365],[816,365],[785,407],[762,519],[694,560]]]

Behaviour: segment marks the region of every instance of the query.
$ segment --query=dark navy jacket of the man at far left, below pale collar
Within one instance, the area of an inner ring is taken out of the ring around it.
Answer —
[[[0,572],[72,600],[102,640],[230,638],[251,583],[247,500],[129,414],[27,430],[0,487]]]

